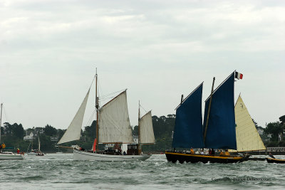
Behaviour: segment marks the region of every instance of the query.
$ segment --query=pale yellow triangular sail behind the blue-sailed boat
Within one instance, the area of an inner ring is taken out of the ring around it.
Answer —
[[[237,124],[237,151],[245,152],[266,149],[252,121],[252,117],[249,115],[247,107],[244,105],[242,97],[240,96],[237,99],[234,112]],[[232,152],[235,151],[232,150]]]

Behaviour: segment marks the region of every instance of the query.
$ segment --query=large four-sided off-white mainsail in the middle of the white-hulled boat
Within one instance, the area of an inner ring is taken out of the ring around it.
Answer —
[[[133,143],[126,90],[99,110],[99,143]]]

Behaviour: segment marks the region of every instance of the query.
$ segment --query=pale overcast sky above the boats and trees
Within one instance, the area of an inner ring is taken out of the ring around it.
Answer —
[[[2,122],[66,129],[95,68],[100,96],[128,89],[133,126],[139,100],[175,114],[182,94],[204,81],[205,100],[237,70],[235,100],[265,127],[285,115],[284,51],[285,1],[1,0]],[[94,107],[93,85],[83,126]]]

